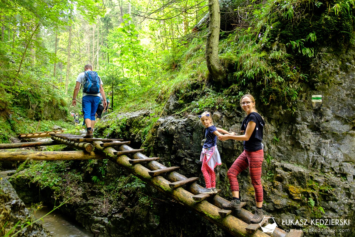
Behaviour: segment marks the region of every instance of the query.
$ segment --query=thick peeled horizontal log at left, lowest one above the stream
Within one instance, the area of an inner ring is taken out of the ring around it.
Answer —
[[[6,151],[0,152],[0,161],[64,161],[64,160],[102,160],[104,155],[84,151]]]

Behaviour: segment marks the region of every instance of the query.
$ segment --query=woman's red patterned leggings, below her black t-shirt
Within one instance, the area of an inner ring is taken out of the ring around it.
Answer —
[[[239,183],[237,175],[249,167],[251,183],[255,190],[255,200],[263,201],[263,187],[261,185],[261,166],[264,160],[264,151],[246,151],[234,161],[233,165],[228,170],[228,179],[232,192],[239,191]]]

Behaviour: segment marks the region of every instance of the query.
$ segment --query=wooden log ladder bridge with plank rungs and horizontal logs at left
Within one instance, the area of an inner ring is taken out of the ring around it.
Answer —
[[[186,206],[220,226],[233,236],[303,236],[303,232],[300,230],[289,230],[286,232],[278,227],[275,228],[273,233],[262,232],[260,227],[268,224],[267,218],[270,216],[265,216],[265,220],[262,221],[261,225],[251,224],[250,219],[253,214],[250,211],[242,208],[240,214],[236,214],[231,210],[224,210],[222,204],[228,204],[229,201],[218,194],[199,194],[199,191],[203,187],[196,183],[198,181],[197,177],[187,178],[177,172],[180,167],[166,167],[157,161],[159,157],[147,157],[143,155],[142,152],[144,149],[133,149],[128,146],[130,141],[102,138],[85,139],[79,135],[63,134],[61,132],[20,134],[19,137],[25,138],[50,136],[52,141],[0,144],[0,149],[64,144],[81,151],[0,152],[0,161],[109,159],[181,205]],[[245,203],[242,202],[242,206],[244,205]]]

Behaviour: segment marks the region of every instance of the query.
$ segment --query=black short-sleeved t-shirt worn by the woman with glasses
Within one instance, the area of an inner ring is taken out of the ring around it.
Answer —
[[[261,141],[263,140],[263,129],[264,129],[265,122],[260,114],[258,114],[256,112],[251,112],[243,120],[240,130],[241,131],[244,130],[244,133],[245,133],[248,123],[250,121],[254,122],[256,125],[255,125],[255,129],[254,129],[253,133],[251,134],[249,140],[243,142],[244,150],[246,150],[246,151],[262,150],[263,146],[261,145]]]

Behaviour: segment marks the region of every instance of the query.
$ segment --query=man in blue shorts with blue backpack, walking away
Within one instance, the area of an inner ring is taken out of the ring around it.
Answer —
[[[84,138],[92,138],[95,126],[95,113],[100,102],[100,93],[103,98],[104,107],[106,107],[107,102],[105,92],[102,87],[103,83],[97,75],[97,72],[92,70],[91,64],[86,64],[84,72],[81,72],[76,79],[72,100],[73,106],[76,106],[76,96],[78,95],[80,85],[83,87],[82,107],[87,129],[87,133]]]

